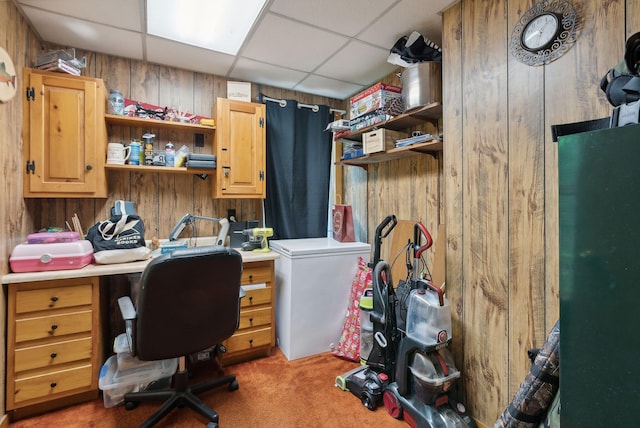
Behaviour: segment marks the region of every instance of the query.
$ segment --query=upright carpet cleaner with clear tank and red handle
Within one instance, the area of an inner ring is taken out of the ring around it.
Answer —
[[[427,244],[420,244],[422,237]],[[450,394],[460,372],[448,349],[449,302],[439,287],[420,277],[418,261],[430,246],[429,232],[416,223],[406,333],[400,341],[394,380],[384,388],[384,406],[391,416],[404,419],[413,428],[476,428],[465,406]]]

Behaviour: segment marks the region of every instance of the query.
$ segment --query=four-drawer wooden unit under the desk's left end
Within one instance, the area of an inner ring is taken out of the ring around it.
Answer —
[[[9,284],[7,410],[97,397],[101,343],[98,277]]]

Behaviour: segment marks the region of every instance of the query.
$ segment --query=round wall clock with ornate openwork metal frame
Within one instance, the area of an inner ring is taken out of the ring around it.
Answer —
[[[548,64],[564,55],[576,39],[577,14],[565,0],[543,0],[513,27],[511,54],[527,65]]]

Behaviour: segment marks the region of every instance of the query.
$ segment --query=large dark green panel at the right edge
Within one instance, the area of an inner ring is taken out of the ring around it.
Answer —
[[[558,139],[561,426],[639,426],[640,126]]]

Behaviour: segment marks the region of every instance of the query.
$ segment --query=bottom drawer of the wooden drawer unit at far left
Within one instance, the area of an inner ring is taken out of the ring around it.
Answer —
[[[91,388],[94,368],[90,364],[37,376],[18,378],[14,382],[14,402],[55,395],[78,388]]]

